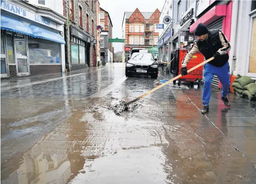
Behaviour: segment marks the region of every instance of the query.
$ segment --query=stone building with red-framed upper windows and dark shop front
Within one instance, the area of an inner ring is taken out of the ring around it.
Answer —
[[[65,17],[66,68],[80,70],[97,66],[96,39],[97,0],[63,0]]]

